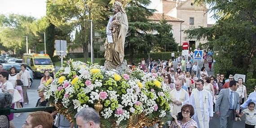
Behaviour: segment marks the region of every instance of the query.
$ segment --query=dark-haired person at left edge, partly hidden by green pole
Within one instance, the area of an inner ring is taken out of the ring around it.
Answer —
[[[12,95],[7,91],[3,90],[0,92],[0,108],[10,106],[12,104]],[[9,128],[9,118],[7,115],[0,115],[0,128]]]

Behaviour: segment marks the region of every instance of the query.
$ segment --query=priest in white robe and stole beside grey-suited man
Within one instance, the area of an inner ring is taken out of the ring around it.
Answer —
[[[212,94],[203,89],[203,80],[196,81],[196,88],[190,95],[189,103],[194,107],[193,119],[198,128],[209,128],[209,121],[213,117]]]

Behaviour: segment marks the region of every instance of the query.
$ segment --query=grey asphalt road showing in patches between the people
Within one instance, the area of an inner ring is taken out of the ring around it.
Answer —
[[[173,65],[176,67],[177,66],[177,62],[173,62]],[[201,68],[203,66],[202,62],[199,62],[199,67]],[[206,65],[207,67],[208,65]],[[209,68],[206,68],[208,75],[213,75],[214,72],[209,71]],[[28,97],[29,97],[29,104],[24,105],[24,107],[35,107],[35,104],[37,102],[37,100],[39,99],[38,94],[37,94],[37,89],[38,86],[40,84],[40,79],[34,79],[32,86],[30,89],[27,90],[28,93]],[[14,114],[17,115],[17,114]],[[21,128],[24,121],[26,120],[28,113],[23,113],[22,115],[20,115],[19,117],[14,117],[13,119],[13,123],[15,124],[16,128]],[[233,128],[244,128],[244,124],[245,124],[245,119],[244,117],[242,118],[241,122],[234,122],[234,127]],[[220,119],[219,117],[217,117],[216,115],[213,116],[213,119],[210,121],[209,127],[210,128],[220,128]]]

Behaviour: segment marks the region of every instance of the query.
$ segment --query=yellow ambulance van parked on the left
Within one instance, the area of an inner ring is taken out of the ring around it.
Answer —
[[[35,78],[43,77],[45,70],[48,70],[52,77],[54,75],[55,69],[48,54],[23,54],[22,62],[31,67]]]

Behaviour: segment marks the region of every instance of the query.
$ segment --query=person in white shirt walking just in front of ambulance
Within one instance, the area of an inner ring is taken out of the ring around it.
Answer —
[[[21,71],[18,75],[18,79],[21,79],[23,86],[22,86],[22,90],[23,90],[23,99],[24,99],[24,104],[28,104],[28,97],[27,97],[27,92],[26,90],[28,88],[30,88],[30,73],[29,71],[26,70],[26,65],[22,64],[21,65]]]

